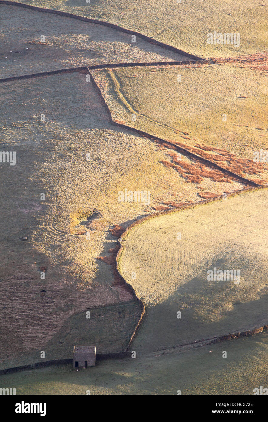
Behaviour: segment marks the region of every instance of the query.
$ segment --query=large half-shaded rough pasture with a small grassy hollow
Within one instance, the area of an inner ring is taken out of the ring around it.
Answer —
[[[7,367],[35,362],[40,350],[48,360],[70,357],[77,338],[96,338],[88,330],[86,310],[133,307],[132,293],[115,283],[112,267],[96,259],[115,247],[109,229],[126,227],[163,201],[200,197],[196,184],[161,164],[166,153],[157,144],[110,124],[97,89],[84,74],[5,82],[0,98],[1,149],[16,151],[16,165],[0,168],[1,210],[8,216],[0,243],[0,318],[7,326],[1,333],[1,366]],[[210,191],[243,187],[209,178],[203,186]],[[150,191],[150,204],[118,202],[124,189]],[[28,240],[21,241],[23,236]],[[127,333],[115,316],[121,344],[111,335],[110,311],[106,324],[91,322],[91,327],[102,327],[99,352],[125,349],[140,315],[135,306],[131,316],[126,311]],[[61,328],[68,332],[75,315],[82,315],[84,324],[64,340]]]

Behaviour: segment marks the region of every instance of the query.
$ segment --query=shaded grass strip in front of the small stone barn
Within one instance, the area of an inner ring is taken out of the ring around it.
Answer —
[[[209,350],[213,353],[209,353]],[[222,352],[227,357],[222,358]],[[0,376],[16,394],[244,394],[267,387],[268,334],[74,371],[49,367]],[[261,363],[260,363],[261,362]]]

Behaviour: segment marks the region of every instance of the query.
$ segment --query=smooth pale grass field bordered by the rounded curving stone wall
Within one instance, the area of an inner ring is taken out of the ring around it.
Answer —
[[[243,193],[150,219],[126,235],[119,270],[146,308],[134,350],[149,353],[268,323],[267,198],[266,189]],[[239,270],[240,282],[207,280],[215,267]]]

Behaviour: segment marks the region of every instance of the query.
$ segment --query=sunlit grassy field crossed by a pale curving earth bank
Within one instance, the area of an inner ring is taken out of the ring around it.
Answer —
[[[268,147],[267,73],[213,64],[93,74],[114,119],[177,142],[247,179],[268,181],[267,163],[252,161],[256,151]]]

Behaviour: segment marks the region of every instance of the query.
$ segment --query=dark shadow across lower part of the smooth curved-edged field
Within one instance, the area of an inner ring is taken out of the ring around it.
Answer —
[[[206,271],[186,281],[162,302],[146,307],[135,350],[152,352],[267,324],[265,256],[236,254],[231,262],[215,260],[209,268],[214,267],[240,268],[240,283],[207,281]]]

